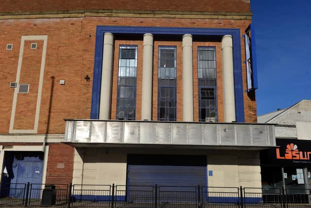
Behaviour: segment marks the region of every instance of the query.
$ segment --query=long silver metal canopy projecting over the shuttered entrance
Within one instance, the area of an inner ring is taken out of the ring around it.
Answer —
[[[265,149],[276,146],[274,125],[245,123],[66,120],[73,146],[187,146]]]

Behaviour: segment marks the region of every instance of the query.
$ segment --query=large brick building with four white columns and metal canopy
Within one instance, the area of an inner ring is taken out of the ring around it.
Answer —
[[[261,187],[249,0],[0,5],[6,183]]]

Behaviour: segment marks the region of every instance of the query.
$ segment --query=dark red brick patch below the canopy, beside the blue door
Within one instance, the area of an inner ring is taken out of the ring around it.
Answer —
[[[72,182],[74,148],[61,143],[50,143],[47,184],[69,184]],[[57,164],[59,166],[57,167]],[[63,166],[64,164],[64,166]],[[64,168],[63,168],[64,167]]]

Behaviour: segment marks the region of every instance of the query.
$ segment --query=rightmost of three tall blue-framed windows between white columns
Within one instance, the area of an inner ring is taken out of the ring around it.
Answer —
[[[215,47],[198,47],[199,121],[217,121]]]

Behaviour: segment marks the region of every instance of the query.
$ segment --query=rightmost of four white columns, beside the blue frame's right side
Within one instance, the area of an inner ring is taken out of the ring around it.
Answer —
[[[225,122],[232,122],[236,121],[236,117],[234,102],[232,36],[230,35],[226,35],[222,39],[222,61]]]

